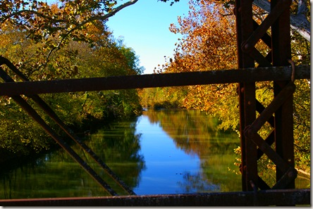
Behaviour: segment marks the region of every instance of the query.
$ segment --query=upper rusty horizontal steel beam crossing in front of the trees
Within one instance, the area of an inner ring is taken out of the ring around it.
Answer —
[[[7,82],[0,84],[0,96],[47,94],[74,91],[100,91],[150,87],[177,87],[196,84],[223,84],[290,80],[291,67],[247,68],[240,70],[211,70],[152,75],[94,77],[70,80]],[[297,66],[295,79],[309,79],[309,66]]]

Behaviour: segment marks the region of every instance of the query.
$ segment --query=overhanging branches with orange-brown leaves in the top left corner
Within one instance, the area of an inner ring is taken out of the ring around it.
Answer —
[[[106,1],[59,1],[49,6],[37,0],[4,0],[0,4],[1,30],[7,25],[26,32],[27,38],[42,42],[49,49],[46,63],[52,51],[60,49],[70,40],[92,42],[87,27],[106,21],[123,8],[135,4],[130,0],[117,6],[118,2]],[[55,37],[51,41],[51,37]]]

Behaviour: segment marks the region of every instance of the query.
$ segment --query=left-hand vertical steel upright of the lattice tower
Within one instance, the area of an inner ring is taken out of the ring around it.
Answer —
[[[253,32],[252,1],[237,0],[235,7],[238,39],[238,68],[254,68],[254,59],[242,50],[243,43]],[[240,99],[240,137],[242,152],[242,185],[243,191],[252,191],[251,182],[257,186],[257,146],[246,140],[243,130],[256,117],[255,84],[240,83],[238,88]]]

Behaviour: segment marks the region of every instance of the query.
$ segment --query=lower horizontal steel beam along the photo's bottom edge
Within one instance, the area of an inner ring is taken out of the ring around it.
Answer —
[[[205,194],[99,196],[0,200],[2,206],[251,206],[310,205],[309,189]]]

